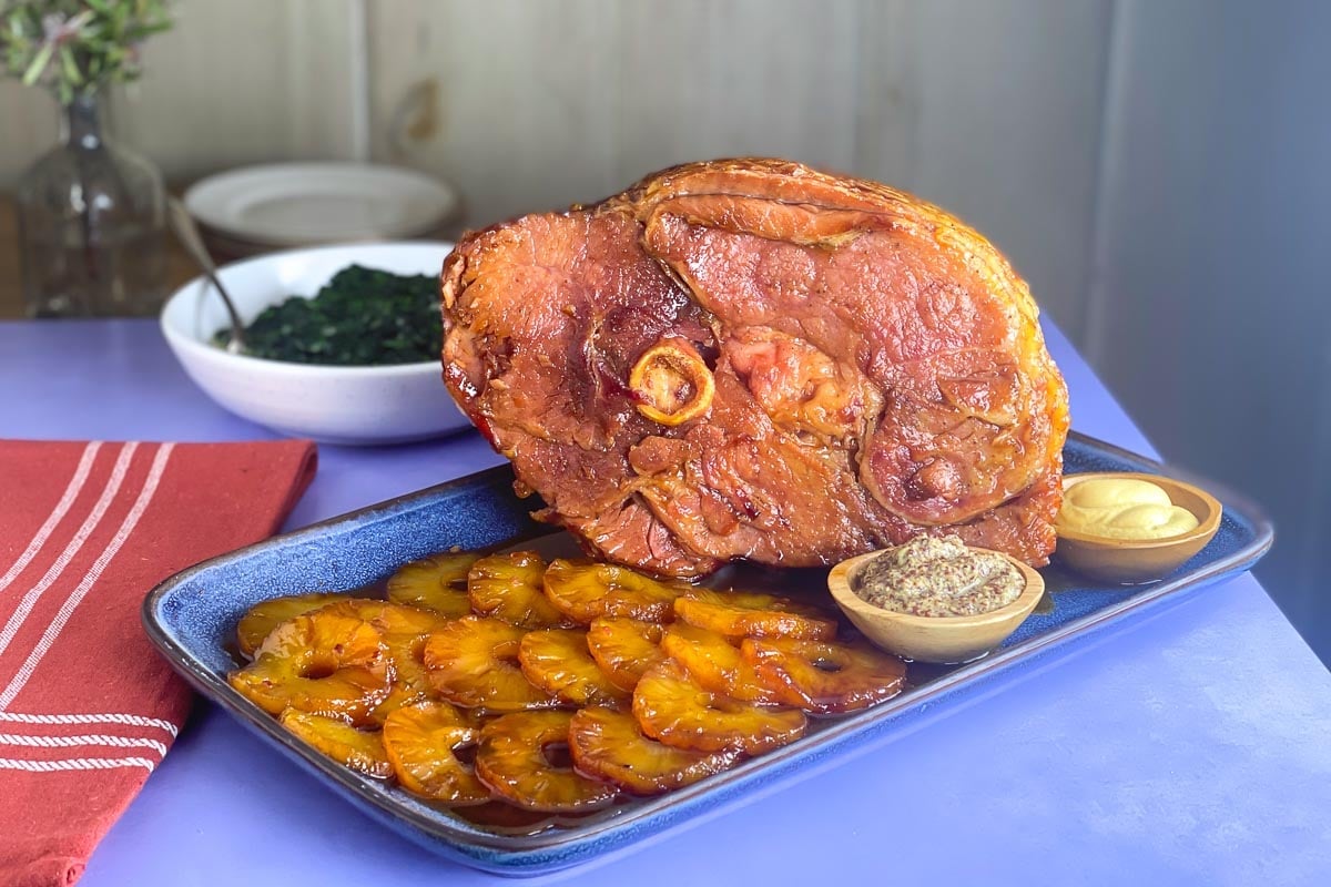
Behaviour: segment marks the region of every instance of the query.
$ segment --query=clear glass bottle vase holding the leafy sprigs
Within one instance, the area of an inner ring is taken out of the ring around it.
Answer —
[[[166,295],[161,174],[102,112],[97,93],[65,105],[60,144],[19,182],[28,317],[150,315]]]

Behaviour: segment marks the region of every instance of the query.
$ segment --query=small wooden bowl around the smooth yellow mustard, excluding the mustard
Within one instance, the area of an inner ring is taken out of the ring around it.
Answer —
[[[1182,567],[1193,555],[1206,548],[1206,544],[1215,536],[1215,531],[1221,528],[1223,508],[1215,496],[1199,487],[1163,475],[1115,471],[1066,475],[1063,492],[1066,493],[1077,484],[1097,477],[1149,480],[1169,493],[1171,503],[1193,512],[1198,525],[1178,536],[1147,540],[1110,539],[1059,529],[1055,556],[1079,573],[1105,582],[1125,584],[1163,578]]]

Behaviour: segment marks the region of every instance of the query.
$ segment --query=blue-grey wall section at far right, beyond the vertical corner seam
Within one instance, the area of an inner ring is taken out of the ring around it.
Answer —
[[[1155,445],[1263,501],[1331,658],[1331,4],[1121,0],[1082,340]]]

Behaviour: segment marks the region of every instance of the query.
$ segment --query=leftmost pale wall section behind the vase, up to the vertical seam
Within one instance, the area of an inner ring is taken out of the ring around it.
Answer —
[[[116,134],[169,181],[241,164],[349,158],[346,64],[357,0],[185,0],[145,49],[145,77],[113,97]],[[43,92],[0,80],[0,190],[55,142]]]

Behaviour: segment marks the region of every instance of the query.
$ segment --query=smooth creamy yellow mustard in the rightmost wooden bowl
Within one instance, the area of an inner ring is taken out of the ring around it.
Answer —
[[[1073,484],[1058,512],[1059,531],[1110,539],[1165,539],[1197,528],[1197,516],[1169,493],[1134,477],[1095,477]]]

